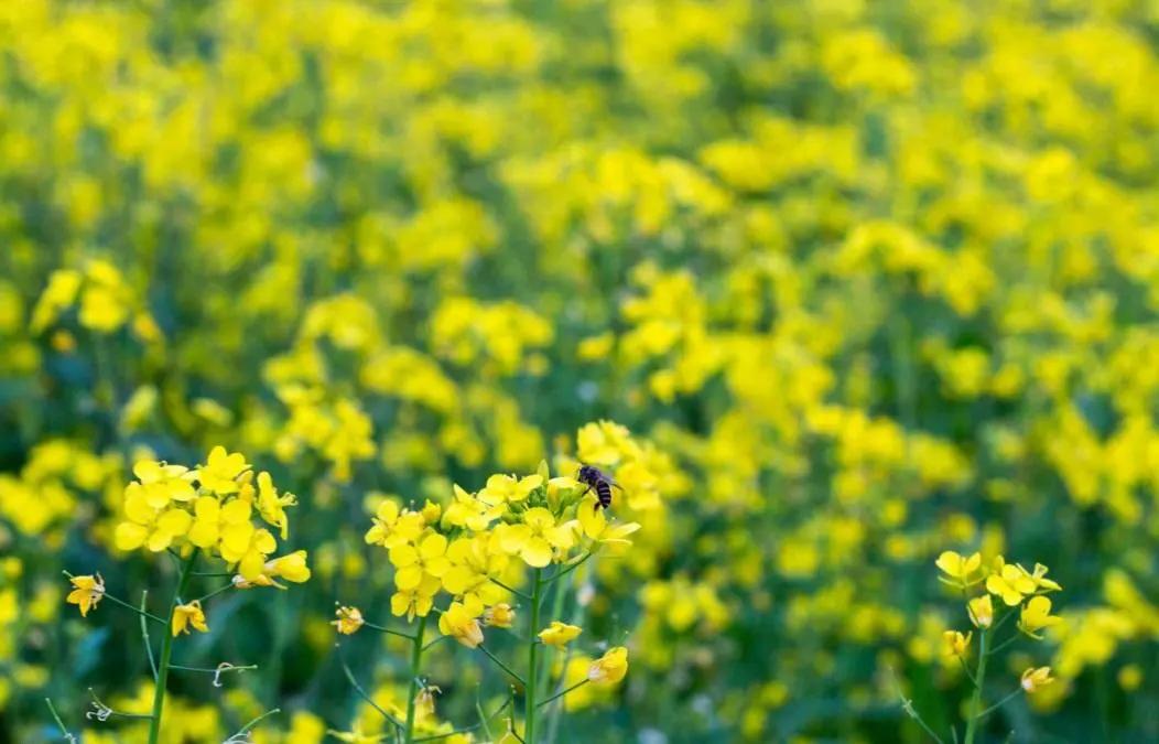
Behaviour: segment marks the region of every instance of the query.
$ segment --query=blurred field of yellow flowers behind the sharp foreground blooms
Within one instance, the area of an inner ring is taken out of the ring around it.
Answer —
[[[661,503],[591,577],[628,679],[559,741],[926,741],[898,690],[970,692],[943,549],[1064,588],[991,739],[1159,739],[1157,44],[1146,0],[0,3],[0,741],[58,739],[45,696],[140,741],[82,717],[148,696],[137,619],[60,575],[172,582],[111,545],[134,459],[299,495],[314,578],[213,608],[185,663],[262,669],[175,678],[169,741],[307,744],[381,727],[327,625],[386,617],[377,499],[600,418]]]

